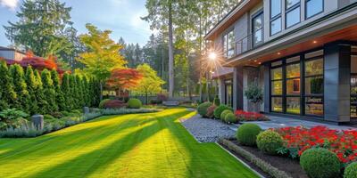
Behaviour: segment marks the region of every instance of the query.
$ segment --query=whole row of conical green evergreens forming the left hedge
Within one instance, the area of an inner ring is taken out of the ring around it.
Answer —
[[[0,110],[21,109],[29,114],[51,114],[59,110],[97,106],[98,82],[65,73],[62,81],[55,69],[41,72],[0,61]]]

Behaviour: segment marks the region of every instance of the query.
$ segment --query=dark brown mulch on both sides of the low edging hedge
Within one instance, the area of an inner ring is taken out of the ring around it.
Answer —
[[[303,169],[299,164],[299,161],[296,159],[279,157],[279,156],[271,156],[271,155],[263,153],[258,148],[247,147],[247,146],[241,145],[239,142],[237,142],[237,140],[231,140],[230,142],[233,142],[240,148],[252,153],[255,157],[261,158],[265,162],[269,163],[271,166],[274,166],[274,167],[278,168],[279,170],[286,172],[286,174],[290,175],[293,178],[308,178],[308,176],[306,174],[304,174]],[[223,146],[224,148],[226,148],[227,150],[229,150],[228,147],[226,147],[225,145],[222,145],[222,144],[220,144],[220,145]],[[252,166],[252,168],[254,170],[256,170],[257,172],[259,172],[260,174],[264,175],[265,177],[272,177],[272,176],[270,176],[270,174],[264,173],[258,166],[255,166],[253,163],[247,161],[245,158],[240,156],[235,151],[233,151],[233,150],[229,150],[229,151],[232,154],[236,155],[237,158],[244,160],[247,165]]]

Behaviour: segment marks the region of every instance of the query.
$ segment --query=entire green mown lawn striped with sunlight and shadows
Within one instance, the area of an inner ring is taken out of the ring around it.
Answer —
[[[257,177],[179,124],[186,109],[100,117],[32,139],[0,139],[0,177]]]

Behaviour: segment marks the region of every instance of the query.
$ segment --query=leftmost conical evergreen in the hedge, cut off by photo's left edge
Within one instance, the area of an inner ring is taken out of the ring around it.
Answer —
[[[0,110],[11,108],[17,95],[13,90],[12,77],[5,61],[0,61],[0,85]]]

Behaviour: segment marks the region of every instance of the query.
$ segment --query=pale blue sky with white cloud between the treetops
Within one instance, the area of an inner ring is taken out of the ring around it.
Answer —
[[[122,36],[126,43],[145,45],[153,33],[149,24],[140,17],[147,14],[145,0],[61,0],[71,6],[71,20],[79,34],[87,32],[86,23],[104,30],[112,30],[112,39]],[[0,0],[0,46],[11,42],[4,35],[7,21],[17,21],[16,11],[22,0]]]

